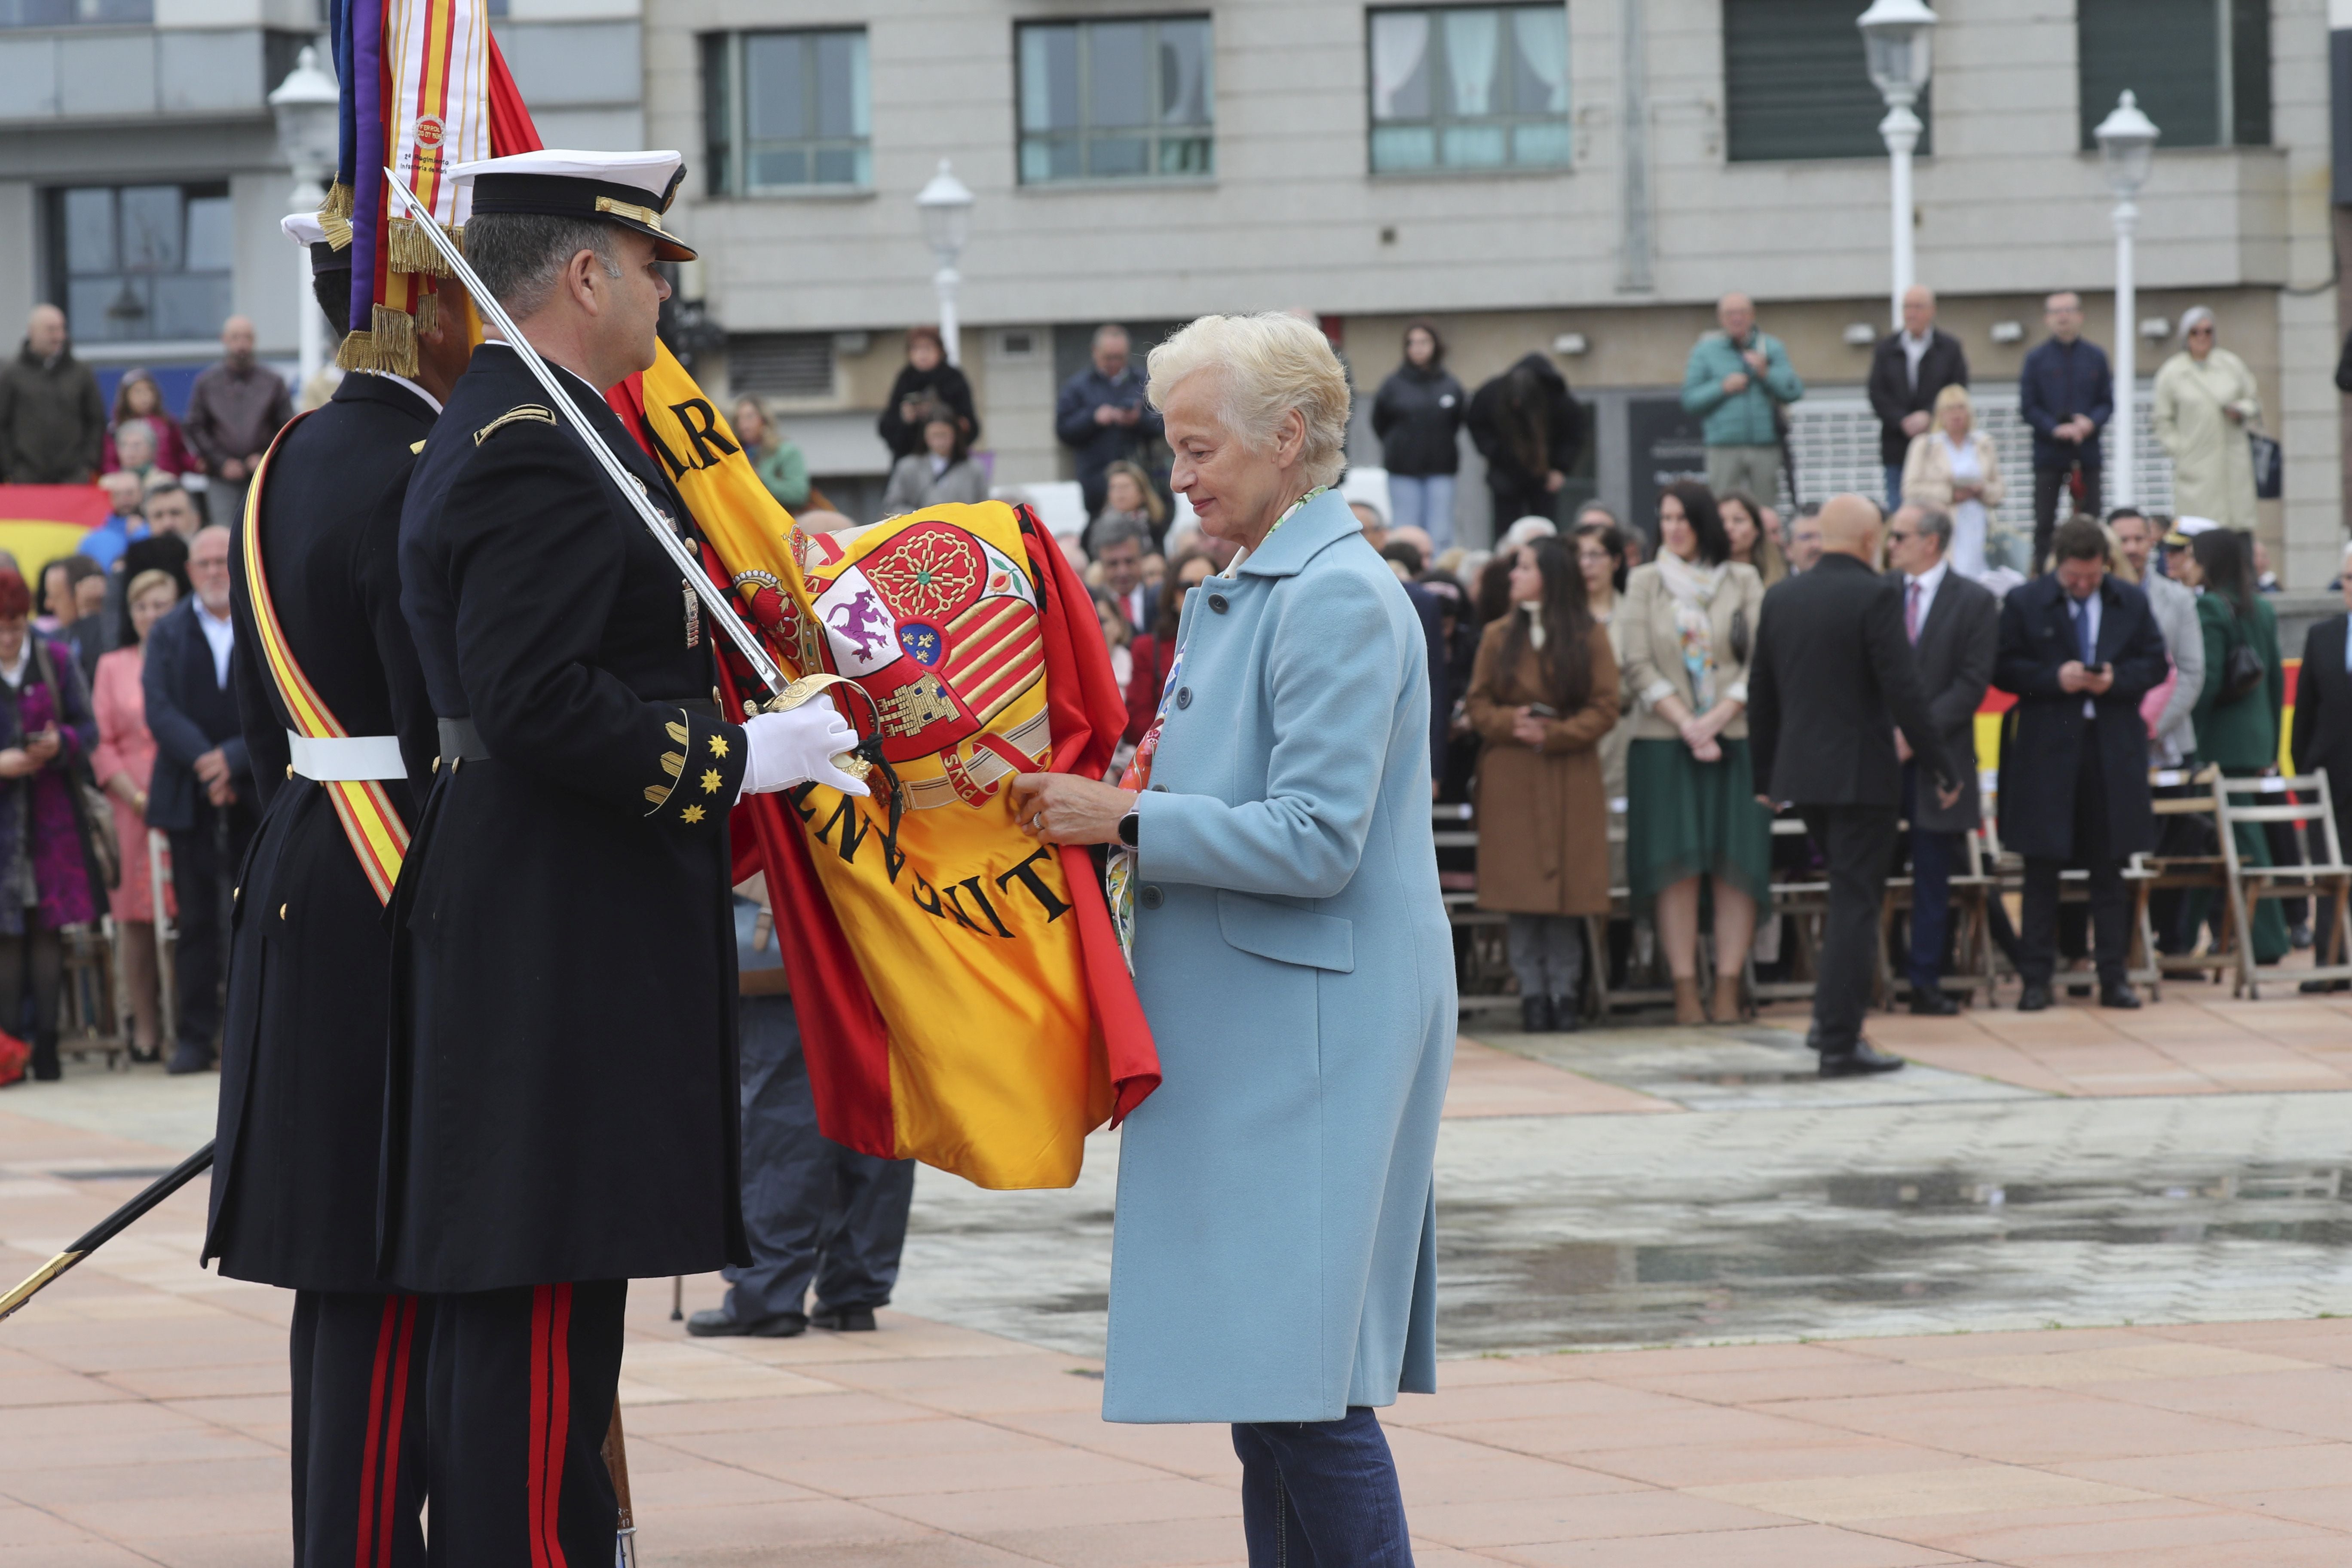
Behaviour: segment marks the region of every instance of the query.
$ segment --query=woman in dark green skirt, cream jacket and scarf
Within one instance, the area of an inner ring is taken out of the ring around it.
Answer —
[[[1698,1001],[1698,884],[1715,900],[1715,1020],[1740,1013],[1740,969],[1771,889],[1771,816],[1748,771],[1748,654],[1764,581],[1731,559],[1705,484],[1658,496],[1658,559],[1625,581],[1611,630],[1625,696],[1625,882],[1649,910],[1675,973],[1675,1023]]]

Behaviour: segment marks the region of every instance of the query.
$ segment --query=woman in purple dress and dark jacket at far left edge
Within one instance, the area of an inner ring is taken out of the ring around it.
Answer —
[[[106,907],[75,792],[99,724],[73,649],[31,616],[33,590],[0,567],[0,1030],[31,1013],[33,1077],[54,1079],[61,933]]]

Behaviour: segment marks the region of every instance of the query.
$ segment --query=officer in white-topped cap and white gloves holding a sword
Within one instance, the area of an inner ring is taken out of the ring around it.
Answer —
[[[856,743],[830,703],[720,719],[715,628],[572,428],[687,520],[604,404],[654,362],[654,263],[694,254],[661,228],[682,172],[553,150],[454,169],[466,256],[569,409],[485,343],[400,520],[440,771],[393,905],[381,1267],[440,1298],[449,1568],[612,1556],[597,1450],[628,1281],[748,1262],[727,811],[809,778],[863,792],[828,762]]]

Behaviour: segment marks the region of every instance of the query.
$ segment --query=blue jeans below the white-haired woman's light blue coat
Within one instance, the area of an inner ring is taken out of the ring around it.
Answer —
[[[1369,1408],[1235,1422],[1232,1450],[1249,1568],[1414,1568],[1397,1462]]]

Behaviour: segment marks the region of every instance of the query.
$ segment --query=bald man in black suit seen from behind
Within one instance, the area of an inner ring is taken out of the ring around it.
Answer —
[[[1748,665],[1757,797],[1766,806],[1795,804],[1828,860],[1830,917],[1813,987],[1813,1046],[1825,1079],[1903,1065],[1863,1041],[1903,806],[1896,729],[1933,780],[1936,804],[1959,802],[1959,776],[1903,632],[1903,592],[1870,569],[1877,534],[1879,508],[1863,496],[1832,496],[1820,508],[1820,564],[1764,595]]]

